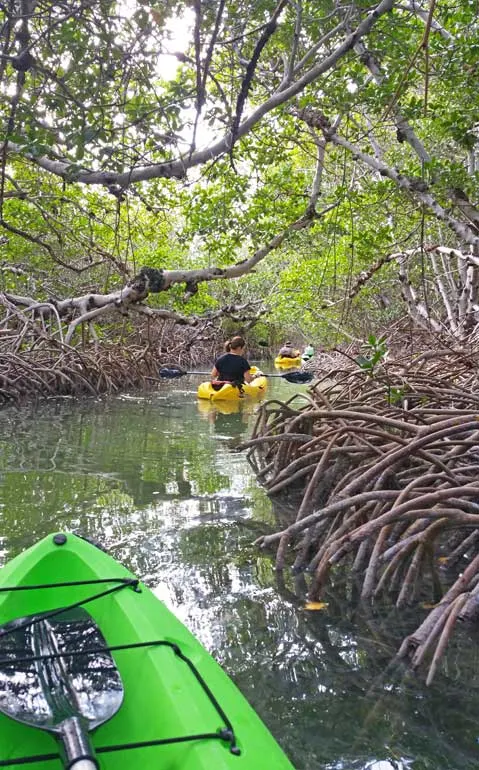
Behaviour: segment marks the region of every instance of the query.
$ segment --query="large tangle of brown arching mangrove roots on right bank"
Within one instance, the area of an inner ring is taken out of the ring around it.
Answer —
[[[312,574],[311,600],[344,563],[364,601],[439,602],[399,650],[414,667],[432,653],[428,683],[456,621],[479,617],[478,365],[430,350],[329,371],[263,405],[242,444],[270,495],[296,496],[295,521],[256,542]]]

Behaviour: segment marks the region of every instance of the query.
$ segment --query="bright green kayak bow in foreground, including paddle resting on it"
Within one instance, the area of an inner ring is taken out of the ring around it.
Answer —
[[[294,770],[165,605],[62,533],[0,570],[0,768],[20,765]]]

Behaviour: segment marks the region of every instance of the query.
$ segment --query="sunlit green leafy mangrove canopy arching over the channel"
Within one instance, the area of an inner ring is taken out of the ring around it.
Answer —
[[[428,185],[448,211],[452,190],[479,199],[471,162],[479,139],[475,9],[436,6],[426,41],[424,18],[395,7],[377,20],[361,51],[349,49],[324,75],[307,77],[294,98],[266,109],[285,88],[290,65],[291,82],[299,82],[344,40],[341,8],[329,0],[301,7],[300,18],[294,4],[285,6],[252,67],[274,0],[227,0],[221,18],[217,5],[201,4],[199,46],[190,0],[58,5],[49,15],[33,6],[26,20],[33,64],[23,80],[20,21],[15,4],[3,7],[0,118],[15,152],[3,180],[8,240],[0,245],[0,288],[63,297],[121,286],[142,265],[224,267],[267,247],[310,203],[324,137],[299,117],[307,107],[337,120],[353,148],[327,143],[316,218],[288,230],[254,273],[229,286],[202,285],[186,306],[181,286],[150,301],[202,313],[262,300],[271,331],[261,335],[297,332],[320,344],[365,339],[400,315],[396,267],[385,257],[422,242],[461,244],[413,194],[355,153]],[[370,11],[368,3],[352,8],[348,29]],[[179,28],[183,37],[173,42]],[[205,151],[188,169],[199,149],[215,148],[227,135],[242,97],[243,119],[258,108],[262,119],[235,137],[231,152]],[[429,161],[397,131],[397,111]],[[184,174],[168,178],[161,165],[154,178],[160,164],[179,157]],[[63,178],[47,170],[60,162]],[[144,181],[130,184],[138,169],[145,169]],[[109,176],[86,187],[77,181],[85,172]],[[453,213],[460,216],[457,207]],[[428,277],[428,265],[420,272]],[[419,270],[412,273],[419,279]]]

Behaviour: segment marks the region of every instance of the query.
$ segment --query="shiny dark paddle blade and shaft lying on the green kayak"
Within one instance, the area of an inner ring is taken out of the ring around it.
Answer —
[[[111,719],[122,700],[115,661],[83,607],[0,626],[0,712],[52,733],[68,770],[97,770],[88,733]]]

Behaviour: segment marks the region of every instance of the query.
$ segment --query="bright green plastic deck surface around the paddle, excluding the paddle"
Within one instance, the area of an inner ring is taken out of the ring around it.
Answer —
[[[77,603],[92,615],[124,686],[118,713],[92,735],[101,769],[260,770],[268,756],[270,767],[293,770],[234,683],[165,605],[99,548],[63,537],[61,544],[44,538],[0,571],[0,623]],[[32,756],[35,770],[62,767],[48,733],[0,714],[0,736],[0,767]]]

